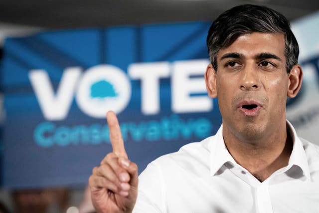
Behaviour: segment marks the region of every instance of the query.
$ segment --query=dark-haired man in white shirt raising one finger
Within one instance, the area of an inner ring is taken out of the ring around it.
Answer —
[[[319,212],[319,147],[286,121],[287,96],[303,78],[287,19],[264,6],[236,6],[213,22],[207,46],[206,88],[218,97],[222,126],[149,164],[138,186],[108,112],[113,153],[89,179],[97,212]]]

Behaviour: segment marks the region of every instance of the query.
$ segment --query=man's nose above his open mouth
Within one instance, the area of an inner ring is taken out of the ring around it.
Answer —
[[[257,90],[261,86],[258,70],[253,65],[246,66],[241,73],[240,89]]]

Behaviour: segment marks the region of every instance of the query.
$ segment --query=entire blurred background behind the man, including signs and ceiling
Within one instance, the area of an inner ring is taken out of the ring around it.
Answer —
[[[318,0],[1,0],[0,212],[93,212],[86,187],[111,151],[107,110],[140,172],[214,134],[206,34],[243,3],[291,21],[304,82],[287,118],[319,144]]]

